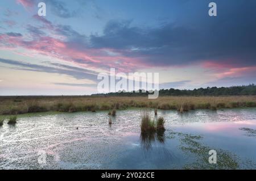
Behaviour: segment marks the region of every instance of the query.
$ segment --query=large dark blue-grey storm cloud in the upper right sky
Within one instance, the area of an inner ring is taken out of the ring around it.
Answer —
[[[91,46],[112,48],[159,66],[201,61],[256,65],[256,1],[216,1],[217,17],[210,17],[209,2],[202,2],[204,6],[196,7],[199,3],[195,3],[195,10],[191,7],[187,12],[188,23],[141,28],[129,20],[112,20],[106,24],[104,35],[90,36]]]

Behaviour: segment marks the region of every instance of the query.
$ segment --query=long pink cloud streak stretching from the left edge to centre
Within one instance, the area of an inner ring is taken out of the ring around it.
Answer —
[[[136,58],[124,56],[102,56],[102,49],[82,49],[71,47],[68,42],[49,36],[39,37],[39,39],[26,41],[23,37],[11,37],[0,35],[0,44],[3,48],[22,47],[34,51],[44,56],[58,58],[60,60],[72,62],[84,66],[85,68],[118,68],[118,71],[128,72],[138,68],[139,61]],[[97,56],[100,55],[100,56]],[[80,60],[80,61],[76,61]],[[117,61],[120,61],[117,63]]]

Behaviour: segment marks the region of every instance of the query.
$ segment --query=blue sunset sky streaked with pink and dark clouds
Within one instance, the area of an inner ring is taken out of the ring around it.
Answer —
[[[159,89],[249,85],[255,32],[254,0],[1,0],[0,95],[94,94],[110,68]]]

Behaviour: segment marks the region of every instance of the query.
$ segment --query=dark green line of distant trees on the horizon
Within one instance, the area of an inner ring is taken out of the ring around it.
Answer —
[[[150,93],[142,92],[110,92],[108,94],[93,94],[97,96],[146,96]],[[179,90],[179,89],[160,89],[159,95],[172,96],[221,96],[221,95],[256,95],[256,86],[254,84],[248,86],[232,86],[232,87],[207,87],[194,90]]]

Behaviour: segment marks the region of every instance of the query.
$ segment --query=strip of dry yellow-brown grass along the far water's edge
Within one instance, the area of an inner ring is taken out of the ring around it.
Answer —
[[[256,107],[256,96],[9,96],[0,97],[0,115],[31,112],[79,112],[123,110],[129,107],[160,110],[220,110],[223,108]]]

